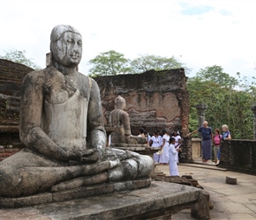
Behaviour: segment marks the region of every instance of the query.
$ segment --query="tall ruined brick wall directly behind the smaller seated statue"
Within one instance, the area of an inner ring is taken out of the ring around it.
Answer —
[[[141,126],[149,133],[163,128],[169,133],[177,129],[184,134],[188,130],[189,100],[184,69],[150,70],[95,80],[101,90],[107,132],[111,130],[109,113],[115,108],[117,95],[126,100],[125,111],[130,115],[133,135],[139,135]]]

